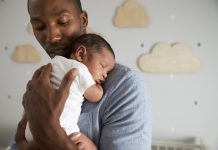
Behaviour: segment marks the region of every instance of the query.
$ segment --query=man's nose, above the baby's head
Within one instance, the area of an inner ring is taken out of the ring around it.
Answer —
[[[61,40],[61,31],[55,25],[50,25],[47,31],[46,42],[57,43]]]

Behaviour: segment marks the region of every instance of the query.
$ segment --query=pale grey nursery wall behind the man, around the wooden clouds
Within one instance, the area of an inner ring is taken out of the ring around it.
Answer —
[[[149,52],[156,42],[183,42],[193,48],[194,55],[203,62],[199,73],[143,73],[152,95],[153,137],[197,137],[218,149],[218,1],[138,0],[146,6],[151,24],[148,28],[133,29],[113,26],[115,10],[124,0],[82,2],[89,14],[89,27],[102,33],[114,48],[117,60],[129,67],[138,70],[138,56]],[[0,146],[7,144],[22,114],[25,84],[34,70],[49,59],[26,32],[28,21],[26,0],[0,1]],[[40,49],[40,64],[11,61],[15,46],[24,43]]]

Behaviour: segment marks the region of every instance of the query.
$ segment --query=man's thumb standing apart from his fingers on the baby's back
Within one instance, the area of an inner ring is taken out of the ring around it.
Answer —
[[[69,92],[73,80],[78,75],[79,70],[76,68],[71,69],[63,78],[59,90],[62,92]]]

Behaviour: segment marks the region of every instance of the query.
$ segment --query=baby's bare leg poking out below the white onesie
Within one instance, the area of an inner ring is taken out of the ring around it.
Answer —
[[[70,139],[79,150],[97,150],[95,144],[81,132],[71,135]]]

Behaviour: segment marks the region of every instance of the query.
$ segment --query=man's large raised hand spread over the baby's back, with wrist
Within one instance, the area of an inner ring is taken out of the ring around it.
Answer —
[[[51,69],[51,64],[48,64],[34,73],[27,84],[23,106],[30,131],[41,149],[63,149],[63,146],[64,149],[71,149],[72,142],[61,128],[59,118],[78,70],[70,70],[62,80],[60,88],[55,90],[50,84]]]

